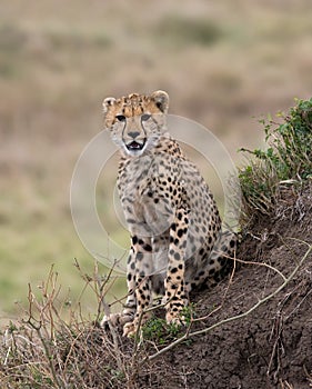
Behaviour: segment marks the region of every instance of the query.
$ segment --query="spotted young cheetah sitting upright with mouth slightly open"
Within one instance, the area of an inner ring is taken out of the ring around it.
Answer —
[[[168,132],[168,107],[164,91],[103,101],[104,126],[120,149],[118,191],[132,243],[124,309],[102,325],[122,325],[125,336],[138,330],[153,292],[164,295],[165,320],[183,323],[190,290],[218,282],[236,246],[234,233],[221,231],[198,168]]]

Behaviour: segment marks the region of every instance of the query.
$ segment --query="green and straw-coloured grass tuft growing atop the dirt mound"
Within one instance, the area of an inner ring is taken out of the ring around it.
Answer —
[[[258,212],[272,216],[285,186],[296,189],[312,177],[312,98],[296,100],[295,107],[278,117],[281,123],[260,120],[265,150],[240,150],[249,154],[239,174],[246,220]]]

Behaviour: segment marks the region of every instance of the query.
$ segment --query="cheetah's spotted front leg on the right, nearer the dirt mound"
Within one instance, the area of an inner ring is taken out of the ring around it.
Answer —
[[[164,280],[167,301],[167,322],[183,323],[181,312],[188,305],[188,293],[184,285],[185,251],[188,239],[188,210],[177,211],[170,227],[170,245],[168,252],[168,269]]]

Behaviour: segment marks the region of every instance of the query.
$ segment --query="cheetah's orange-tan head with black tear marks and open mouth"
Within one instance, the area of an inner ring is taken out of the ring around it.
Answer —
[[[165,131],[169,96],[161,90],[150,96],[132,93],[103,101],[104,126],[123,154],[139,157],[158,144]]]

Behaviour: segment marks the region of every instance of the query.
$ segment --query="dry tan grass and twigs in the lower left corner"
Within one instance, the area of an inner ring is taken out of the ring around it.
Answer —
[[[110,285],[95,271],[85,277],[85,288],[97,297],[94,321],[85,320],[80,306],[60,298],[54,271],[42,282],[39,297],[29,287],[28,309],[1,333],[1,388],[121,388],[131,382],[135,369],[125,352],[129,343],[97,325]]]

